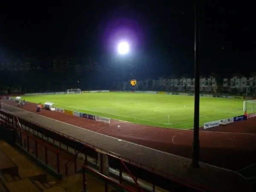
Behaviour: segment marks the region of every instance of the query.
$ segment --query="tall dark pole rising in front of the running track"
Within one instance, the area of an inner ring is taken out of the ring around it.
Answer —
[[[194,105],[194,138],[192,163],[194,168],[199,167],[199,103],[200,103],[200,21],[199,0],[195,0],[195,105]]]

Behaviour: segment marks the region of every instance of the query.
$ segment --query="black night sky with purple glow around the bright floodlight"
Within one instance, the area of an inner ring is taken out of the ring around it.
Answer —
[[[201,1],[202,75],[256,71],[253,6],[242,1]],[[194,73],[193,0],[25,2],[1,5],[1,57],[28,52],[90,55],[104,65],[113,56],[111,31],[126,25],[135,39],[134,62],[163,75]]]

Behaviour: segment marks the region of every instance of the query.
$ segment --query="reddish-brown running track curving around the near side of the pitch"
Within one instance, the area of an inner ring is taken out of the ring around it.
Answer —
[[[4,100],[4,103],[17,107],[15,102],[9,100]],[[23,109],[35,112],[36,104],[26,103]],[[193,132],[191,130],[158,128],[118,120],[111,120],[111,124],[105,124],[46,110],[42,110],[40,114],[160,151],[187,158],[192,156]],[[233,123],[230,125],[241,126],[240,124]],[[117,129],[117,125],[121,126],[120,130]],[[233,129],[236,128],[236,126],[233,126]],[[256,134],[200,131],[200,160],[204,163],[238,171],[256,162],[255,140]]]

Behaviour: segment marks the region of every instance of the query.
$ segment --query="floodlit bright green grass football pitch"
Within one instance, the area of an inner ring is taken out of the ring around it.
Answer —
[[[152,93],[81,93],[22,96],[29,102],[53,102],[55,107],[143,125],[193,127],[194,97]],[[200,97],[200,125],[243,114],[243,99]],[[169,116],[169,118],[168,118]]]

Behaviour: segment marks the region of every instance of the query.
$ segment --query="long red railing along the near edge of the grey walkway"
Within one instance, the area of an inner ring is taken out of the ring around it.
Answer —
[[[11,112],[9,112],[9,111],[5,111],[5,110],[1,109],[1,110],[0,110],[0,113],[3,114],[2,112],[3,112],[3,113],[6,113],[6,115],[8,115],[8,114],[10,115],[10,114],[11,114],[12,116],[17,116],[17,115],[15,115],[14,113],[11,113]],[[55,130],[53,130],[53,129],[51,129],[51,128],[45,127],[44,125],[41,125],[41,124],[36,123],[36,122],[33,122],[33,121],[29,120],[29,119],[25,119],[25,118],[19,118],[19,119],[23,119],[23,120],[25,120],[25,121],[27,121],[27,122],[30,122],[30,123],[34,124],[34,125],[38,125],[38,126],[41,127],[41,128],[45,128],[45,129],[47,129],[47,130],[49,130],[49,131],[51,131],[51,132],[53,132],[53,133],[55,133],[55,134],[59,134],[59,135],[61,135],[61,136],[63,136],[63,137],[66,137],[66,138],[69,139],[69,140],[76,141],[76,142],[79,142],[79,143],[83,143],[84,145],[86,145],[86,146],[89,147],[89,148],[92,148],[92,149],[94,149],[94,150],[102,151],[102,152],[104,152],[104,153],[106,153],[106,154],[108,154],[108,155],[111,155],[111,156],[115,157],[115,158],[119,158],[119,159],[122,159],[122,160],[124,160],[124,161],[126,161],[126,162],[128,162],[128,163],[131,163],[132,165],[137,166],[137,167],[139,167],[139,168],[141,168],[141,169],[145,169],[145,170],[147,170],[147,171],[149,171],[149,172],[153,172],[153,173],[156,174],[156,175],[159,175],[159,176],[161,176],[161,177],[165,177],[165,178],[167,178],[167,179],[173,180],[173,181],[175,181],[175,182],[177,182],[177,183],[180,183],[180,184],[183,184],[183,185],[185,185],[185,186],[188,186],[188,187],[192,187],[192,188],[194,188],[194,189],[201,190],[202,192],[203,192],[204,190],[211,191],[211,192],[218,192],[217,190],[212,189],[212,188],[210,188],[210,187],[208,187],[208,186],[204,186],[204,185],[202,185],[202,184],[200,184],[200,183],[195,183],[195,182],[193,182],[193,181],[191,181],[191,180],[187,180],[187,179],[184,179],[184,178],[181,178],[181,177],[177,177],[176,175],[172,175],[172,174],[170,174],[170,173],[163,172],[163,171],[161,171],[161,170],[158,170],[158,169],[155,169],[155,168],[153,168],[153,167],[144,165],[144,164],[139,163],[139,162],[137,162],[137,161],[128,159],[128,158],[126,158],[126,157],[122,157],[122,156],[119,155],[119,154],[116,154],[116,153],[113,153],[113,152],[111,152],[111,151],[107,151],[107,150],[105,150],[105,149],[99,148],[99,147],[97,147],[97,146],[95,146],[95,145],[92,145],[92,144],[90,144],[90,143],[86,143],[86,142],[81,141],[81,140],[78,140],[78,139],[76,139],[76,138],[74,138],[74,137],[70,137],[70,136],[67,135],[67,134],[63,134],[63,133],[61,133],[61,132],[59,132],[59,131],[55,131]],[[175,179],[175,178],[176,178],[176,179]],[[183,182],[184,182],[184,183],[183,183]],[[188,184],[188,183],[190,183],[190,184]],[[197,187],[194,187],[194,186],[197,186]]]

